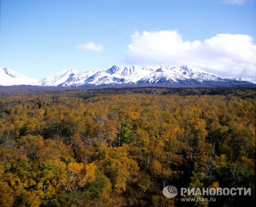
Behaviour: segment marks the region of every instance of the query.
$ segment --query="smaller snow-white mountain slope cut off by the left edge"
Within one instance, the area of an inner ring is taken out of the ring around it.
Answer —
[[[0,85],[37,85],[38,80],[24,76],[9,68],[0,67]]]

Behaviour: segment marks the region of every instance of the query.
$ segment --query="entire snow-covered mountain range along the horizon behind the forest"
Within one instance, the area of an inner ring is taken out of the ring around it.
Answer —
[[[109,69],[88,72],[66,70],[42,80],[32,79],[9,68],[0,67],[0,85],[35,85],[55,87],[255,86],[255,84],[247,82],[241,78],[223,78],[188,65],[146,67],[112,66]]]

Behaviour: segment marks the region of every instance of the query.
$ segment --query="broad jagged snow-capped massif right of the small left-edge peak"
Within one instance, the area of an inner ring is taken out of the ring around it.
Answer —
[[[118,86],[129,85],[169,85],[169,84],[200,84],[206,82],[230,83],[240,79],[225,79],[202,71],[193,66],[147,66],[117,67],[106,70],[78,72],[62,71],[39,82],[42,86]],[[242,81],[242,80],[241,80]]]

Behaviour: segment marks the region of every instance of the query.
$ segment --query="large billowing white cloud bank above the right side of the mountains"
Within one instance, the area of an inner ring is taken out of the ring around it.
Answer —
[[[255,82],[256,45],[249,35],[217,34],[203,42],[183,41],[177,30],[136,31],[126,51],[129,64],[188,64],[224,77]]]

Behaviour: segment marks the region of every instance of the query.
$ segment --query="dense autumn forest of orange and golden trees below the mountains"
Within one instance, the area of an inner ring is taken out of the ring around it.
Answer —
[[[0,88],[0,206],[254,206],[255,100],[248,88]],[[182,202],[166,185],[252,194]]]

